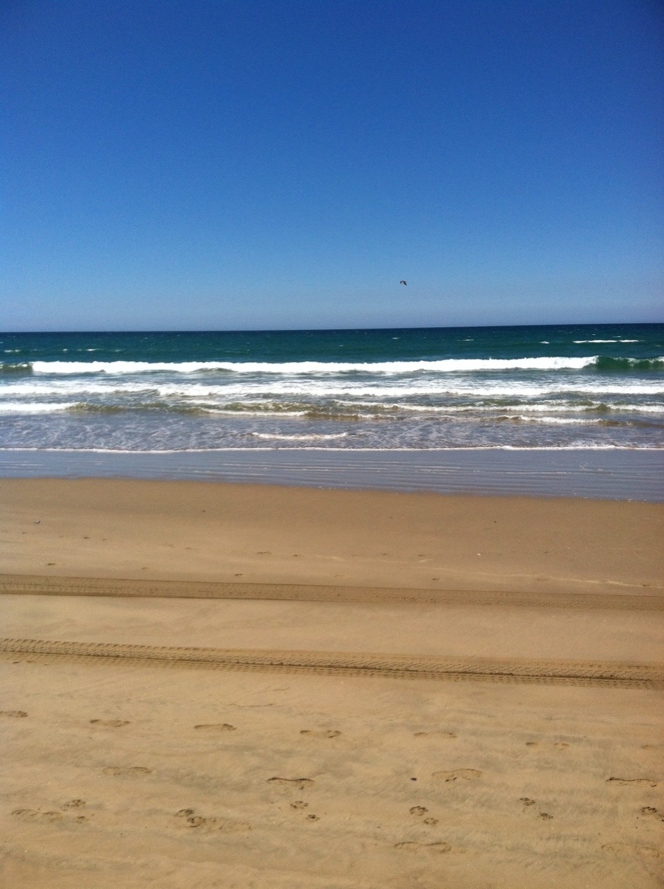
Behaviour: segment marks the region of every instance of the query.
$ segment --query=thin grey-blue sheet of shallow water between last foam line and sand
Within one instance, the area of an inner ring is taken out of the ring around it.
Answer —
[[[664,502],[664,449],[0,451],[0,480],[20,477],[188,479],[345,490]]]

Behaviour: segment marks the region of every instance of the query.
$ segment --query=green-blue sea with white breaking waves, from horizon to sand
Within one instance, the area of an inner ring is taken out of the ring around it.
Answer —
[[[664,324],[0,333],[4,476],[664,500],[662,469]]]

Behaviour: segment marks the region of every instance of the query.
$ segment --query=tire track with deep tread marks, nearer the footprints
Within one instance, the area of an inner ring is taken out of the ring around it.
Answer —
[[[277,670],[328,676],[480,682],[609,685],[662,688],[664,664],[619,661],[551,661],[399,654],[185,648],[45,639],[0,639],[0,653],[46,658],[84,658],[152,666]]]

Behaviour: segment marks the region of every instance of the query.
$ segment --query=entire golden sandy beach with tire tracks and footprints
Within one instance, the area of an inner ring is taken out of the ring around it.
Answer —
[[[3,885],[664,885],[663,524],[3,479]]]

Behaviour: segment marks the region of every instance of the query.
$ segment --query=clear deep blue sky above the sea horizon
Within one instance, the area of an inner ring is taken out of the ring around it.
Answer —
[[[664,316],[660,0],[4,0],[0,52],[2,330]]]

